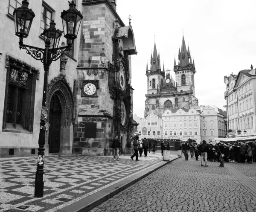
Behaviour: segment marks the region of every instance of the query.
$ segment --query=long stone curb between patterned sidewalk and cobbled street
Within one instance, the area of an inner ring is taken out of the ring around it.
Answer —
[[[112,186],[109,186],[105,189],[102,189],[101,191],[96,192],[93,195],[85,197],[85,198],[77,201],[76,203],[73,203],[69,206],[59,209],[57,212],[87,212],[87,211],[90,211],[94,207],[105,202],[106,200],[108,200],[109,198],[118,194],[119,192],[122,192],[123,190],[127,189],[134,183],[137,183],[144,177],[147,177],[149,174],[153,173],[154,171],[157,171],[157,169],[165,166],[168,163],[171,163],[172,161],[176,160],[177,158],[180,158],[180,157],[176,156],[174,159],[171,159],[169,161],[163,160],[163,162],[164,162],[163,164],[157,164],[151,168],[148,168],[145,171],[135,174],[134,176],[128,177],[127,179],[122,180],[118,183],[115,183]]]

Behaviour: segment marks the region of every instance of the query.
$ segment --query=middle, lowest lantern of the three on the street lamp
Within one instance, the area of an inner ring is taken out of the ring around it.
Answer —
[[[50,49],[58,48],[62,32],[59,29],[55,28],[56,23],[54,20],[50,23],[48,29],[44,29],[44,32],[41,34],[44,36],[44,44],[47,46],[47,39],[50,40]]]

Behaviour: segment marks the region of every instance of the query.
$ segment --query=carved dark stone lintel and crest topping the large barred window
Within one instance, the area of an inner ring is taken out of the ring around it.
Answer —
[[[31,65],[13,58],[10,55],[6,55],[6,68],[10,67],[10,64],[13,64],[16,66],[15,70],[17,71],[17,75],[19,75],[19,80],[21,80],[22,82],[25,82],[27,79],[27,75],[28,74],[32,74],[35,73],[36,74],[36,79],[39,80],[39,76],[40,76],[40,71],[39,69],[36,69],[34,67],[32,67]],[[12,70],[10,71],[11,74]]]

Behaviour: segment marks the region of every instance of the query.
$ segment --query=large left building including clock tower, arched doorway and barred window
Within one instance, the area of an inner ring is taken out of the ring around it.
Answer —
[[[137,125],[132,120],[131,55],[137,51],[131,21],[128,26],[122,22],[116,0],[27,2],[35,13],[29,36],[23,39],[29,46],[45,48],[41,33],[52,20],[63,30],[63,10],[75,7],[83,19],[72,49],[52,61],[42,110],[43,63],[19,49],[14,30],[13,12],[22,0],[1,2],[0,157],[37,154],[41,117],[50,125],[46,154],[112,154],[115,135],[122,152],[129,151],[129,136]],[[61,35],[57,47],[63,46],[67,39]]]

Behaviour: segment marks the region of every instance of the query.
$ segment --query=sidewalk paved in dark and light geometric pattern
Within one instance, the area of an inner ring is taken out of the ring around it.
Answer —
[[[35,158],[0,160],[0,212],[55,212],[162,161],[46,157],[44,197],[34,197]]]

